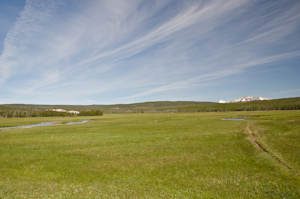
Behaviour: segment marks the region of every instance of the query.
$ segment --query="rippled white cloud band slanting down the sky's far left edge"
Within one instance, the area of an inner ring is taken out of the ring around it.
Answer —
[[[28,0],[20,18],[4,40],[4,50],[0,56],[0,83],[12,76],[19,69],[20,56],[29,50],[32,40],[41,24],[46,23],[55,9],[54,0],[41,3]]]

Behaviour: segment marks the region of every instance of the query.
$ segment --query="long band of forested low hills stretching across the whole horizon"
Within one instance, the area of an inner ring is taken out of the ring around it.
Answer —
[[[79,114],[49,111],[49,109],[79,111]],[[144,102],[115,105],[0,105],[0,117],[76,117],[99,116],[113,113],[168,113],[168,112],[221,112],[221,111],[265,111],[265,110],[300,110],[300,97],[219,104],[214,102]]]

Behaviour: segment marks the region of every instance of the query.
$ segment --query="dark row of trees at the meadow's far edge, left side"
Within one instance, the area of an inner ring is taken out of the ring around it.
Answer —
[[[91,111],[81,111],[79,114],[67,113],[67,112],[57,112],[48,110],[0,110],[0,117],[4,118],[22,118],[22,117],[76,117],[76,116],[99,116],[103,115],[100,110]]]

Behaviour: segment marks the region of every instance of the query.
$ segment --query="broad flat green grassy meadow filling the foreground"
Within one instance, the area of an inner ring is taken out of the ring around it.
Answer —
[[[241,115],[255,120],[220,120]],[[0,130],[0,198],[300,198],[298,110],[0,118],[0,126],[75,119],[94,121]]]

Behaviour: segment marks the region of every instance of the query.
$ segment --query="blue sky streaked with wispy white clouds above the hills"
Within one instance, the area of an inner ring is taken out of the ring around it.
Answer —
[[[0,104],[300,96],[299,0],[0,0]]]

